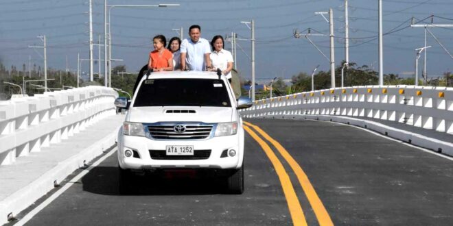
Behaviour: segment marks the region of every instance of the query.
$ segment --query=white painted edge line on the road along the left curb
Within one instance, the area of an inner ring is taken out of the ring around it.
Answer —
[[[36,208],[34,208],[32,211],[28,212],[25,216],[23,216],[23,218],[21,218],[16,224],[14,224],[14,226],[25,225],[25,223],[30,221],[30,219],[32,219],[33,216],[38,214],[38,212],[43,210],[47,205],[49,205],[52,201],[54,201],[56,198],[58,198],[60,196],[60,194],[62,194],[66,190],[68,190],[68,188],[70,188],[74,184],[74,182],[80,180],[84,175],[86,175],[86,173],[89,173],[89,171],[91,171],[92,168],[99,165],[101,162],[106,160],[106,158],[110,157],[110,155],[112,155],[116,151],[117,151],[117,147],[113,148],[110,152],[106,153],[106,155],[102,156],[102,158],[100,158],[99,160],[97,160],[96,162],[91,164],[91,166],[89,166],[88,168],[85,168],[82,172],[80,172],[78,175],[73,177],[73,179],[71,179],[71,181],[68,181],[65,184],[65,186],[62,186],[62,188],[57,190],[49,198],[47,198],[45,201],[43,201],[38,206],[36,206]]]

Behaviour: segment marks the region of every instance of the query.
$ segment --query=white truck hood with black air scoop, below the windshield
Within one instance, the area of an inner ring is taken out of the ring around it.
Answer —
[[[129,109],[126,121],[223,123],[233,121],[233,111],[224,107],[137,107]]]

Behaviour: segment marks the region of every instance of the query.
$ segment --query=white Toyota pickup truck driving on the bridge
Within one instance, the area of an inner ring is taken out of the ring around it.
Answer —
[[[168,169],[213,171],[227,190],[244,192],[244,129],[229,81],[215,72],[170,71],[142,77],[119,130],[119,191],[129,192],[135,173]]]

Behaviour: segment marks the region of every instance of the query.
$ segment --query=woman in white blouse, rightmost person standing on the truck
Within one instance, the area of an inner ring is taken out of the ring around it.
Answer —
[[[231,82],[231,70],[233,69],[233,55],[230,51],[223,49],[224,40],[222,36],[214,36],[211,40],[212,53],[209,55],[211,59],[213,71],[217,71],[220,68],[222,74],[227,77]]]

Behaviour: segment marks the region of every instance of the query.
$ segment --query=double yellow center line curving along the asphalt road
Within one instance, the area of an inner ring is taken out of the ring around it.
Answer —
[[[275,153],[272,151],[269,145],[262,138],[260,138],[255,133],[255,131],[257,131],[262,137],[268,140],[268,142],[270,142],[279,151],[279,153],[281,154],[281,156],[283,156],[286,162],[288,162],[288,164],[292,168],[292,171],[294,171],[294,173],[296,174],[297,179],[299,180],[299,184],[301,184],[303,192],[305,192],[305,195],[307,196],[310,205],[312,205],[312,209],[314,211],[314,214],[316,215],[316,218],[318,219],[319,225],[334,225],[334,223],[332,223],[332,219],[327,213],[327,210],[325,210],[324,205],[321,202],[321,199],[319,199],[318,194],[316,194],[316,191],[314,190],[312,184],[310,183],[310,180],[308,179],[307,175],[303,172],[301,166],[299,166],[296,160],[292,158],[290,153],[288,153],[288,151],[286,151],[286,149],[283,146],[281,146],[280,143],[277,142],[277,140],[271,138],[261,128],[247,122],[244,122],[244,124],[246,125],[244,126],[244,129],[262,147],[262,149],[268,156],[270,162],[272,162],[272,165],[275,168],[275,172],[279,177],[281,186],[283,188],[283,193],[285,194],[286,197],[286,201],[288,202],[288,208],[290,210],[292,223],[294,225],[307,225],[307,221],[305,220],[305,215],[303,214],[301,203],[299,203],[297,194],[294,191],[294,186],[292,186],[291,179],[288,176],[288,173],[286,173],[283,164],[281,164],[280,160],[277,158],[277,155],[275,155]],[[253,131],[251,128],[255,129],[255,131]]]

